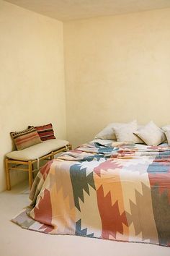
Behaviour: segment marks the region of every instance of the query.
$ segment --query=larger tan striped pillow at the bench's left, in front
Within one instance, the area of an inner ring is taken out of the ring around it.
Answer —
[[[35,127],[24,129],[21,132],[10,132],[17,150],[23,150],[32,145],[42,143]]]

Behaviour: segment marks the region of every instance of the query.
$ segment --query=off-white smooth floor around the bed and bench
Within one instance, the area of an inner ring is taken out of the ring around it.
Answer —
[[[0,194],[0,256],[169,256],[170,247],[58,236],[22,229],[10,219],[29,204],[27,184]]]

